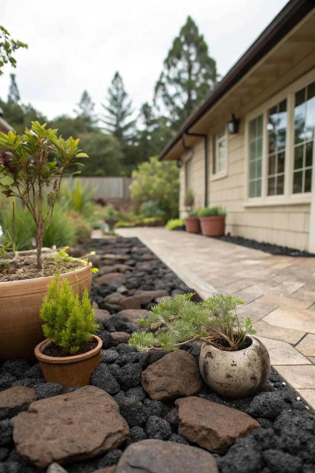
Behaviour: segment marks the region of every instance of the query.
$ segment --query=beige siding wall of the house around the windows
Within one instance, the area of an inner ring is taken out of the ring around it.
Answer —
[[[314,72],[315,80],[315,72]],[[264,91],[264,96],[265,96]],[[270,95],[272,97],[272,93]],[[266,102],[265,98],[259,105]],[[254,111],[255,111],[254,109]],[[238,134],[228,138],[228,166],[226,175],[217,178],[212,175],[213,161],[213,133],[209,131],[208,155],[208,202],[209,206],[222,205],[227,209],[226,233],[233,236],[244,236],[257,241],[264,241],[276,245],[289,246],[299,250],[309,249],[310,203],[304,199],[296,203],[296,199],[288,196],[282,199],[281,204],[263,205],[250,204],[247,196],[247,114],[240,118]],[[224,123],[218,124],[222,126]],[[200,140],[193,149],[193,190],[195,191],[195,207],[204,206],[204,142]],[[185,156],[183,157],[185,160]],[[314,174],[314,171],[313,171]],[[185,166],[180,171],[180,216],[187,213],[184,207],[185,196]],[[314,187],[313,187],[314,188]],[[310,194],[308,194],[310,200]],[[293,203],[294,201],[294,203]],[[252,206],[251,206],[252,205]]]

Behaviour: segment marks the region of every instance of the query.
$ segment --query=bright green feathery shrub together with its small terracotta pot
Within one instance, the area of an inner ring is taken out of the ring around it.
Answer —
[[[66,278],[55,276],[43,298],[40,316],[46,338],[35,350],[47,383],[63,389],[90,384],[93,370],[100,363],[102,340],[94,335],[99,325],[85,289],[82,298],[73,294]]]

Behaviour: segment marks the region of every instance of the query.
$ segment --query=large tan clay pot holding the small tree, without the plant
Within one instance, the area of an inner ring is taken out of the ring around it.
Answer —
[[[67,278],[75,294],[79,288],[91,289],[92,263],[61,274]],[[34,359],[34,348],[44,338],[39,309],[47,294],[47,284],[53,276],[0,282],[0,360],[9,358]]]

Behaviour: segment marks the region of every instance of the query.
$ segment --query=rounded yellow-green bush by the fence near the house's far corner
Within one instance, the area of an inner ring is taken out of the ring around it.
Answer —
[[[150,158],[149,162],[141,163],[133,171],[132,177],[129,189],[136,205],[153,200],[165,213],[166,219],[178,216],[179,173],[174,162]]]

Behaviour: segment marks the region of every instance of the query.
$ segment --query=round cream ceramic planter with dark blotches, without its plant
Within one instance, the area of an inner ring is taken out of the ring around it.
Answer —
[[[262,389],[270,374],[269,353],[257,338],[249,347],[225,351],[204,342],[199,369],[204,382],[224,397],[245,397]]]

